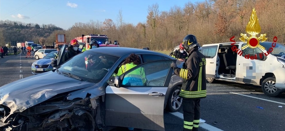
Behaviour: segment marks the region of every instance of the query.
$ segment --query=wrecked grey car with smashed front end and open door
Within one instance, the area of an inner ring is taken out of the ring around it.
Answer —
[[[142,64],[113,77],[131,53],[139,55]],[[121,126],[162,131],[164,109],[179,111],[182,102],[182,78],[173,73],[172,62],[182,66],[173,57],[150,50],[86,50],[50,72],[0,87],[0,129],[89,131]],[[125,77],[138,68],[144,68],[146,84],[124,85]]]

